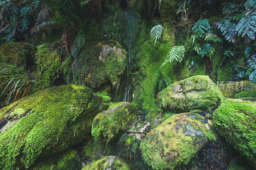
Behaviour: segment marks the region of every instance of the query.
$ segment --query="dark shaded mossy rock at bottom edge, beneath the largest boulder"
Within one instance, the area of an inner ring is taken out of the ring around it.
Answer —
[[[44,159],[34,170],[81,170],[81,165],[77,151],[71,149]]]

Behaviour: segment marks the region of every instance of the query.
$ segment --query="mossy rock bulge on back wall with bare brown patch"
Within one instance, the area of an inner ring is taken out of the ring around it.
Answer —
[[[127,65],[127,52],[117,41],[90,44],[70,66],[68,82],[100,87],[108,81],[118,87]]]

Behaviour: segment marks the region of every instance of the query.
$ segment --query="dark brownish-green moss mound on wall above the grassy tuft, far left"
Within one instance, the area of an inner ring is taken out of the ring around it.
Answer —
[[[34,64],[35,49],[27,43],[6,42],[0,47],[0,61],[24,68],[31,66]]]

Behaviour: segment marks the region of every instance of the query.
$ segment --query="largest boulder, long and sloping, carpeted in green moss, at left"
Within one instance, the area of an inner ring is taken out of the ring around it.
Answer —
[[[24,97],[0,110],[0,169],[29,167],[83,141],[99,103],[84,86],[65,85]]]

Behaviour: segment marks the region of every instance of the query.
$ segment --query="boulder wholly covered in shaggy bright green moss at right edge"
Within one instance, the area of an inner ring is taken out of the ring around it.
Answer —
[[[226,100],[213,113],[220,135],[256,168],[256,102]]]

